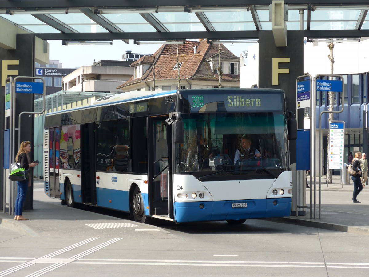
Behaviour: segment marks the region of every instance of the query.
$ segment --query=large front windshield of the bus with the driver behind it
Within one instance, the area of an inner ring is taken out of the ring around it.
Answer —
[[[288,170],[282,112],[182,114],[184,143],[176,146],[177,174],[204,181],[276,178]]]

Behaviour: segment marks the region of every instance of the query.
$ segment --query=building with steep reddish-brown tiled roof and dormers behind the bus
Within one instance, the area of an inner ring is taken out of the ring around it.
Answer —
[[[239,58],[223,44],[221,48],[222,86],[239,87]],[[186,44],[163,44],[153,57],[141,57],[131,64],[134,75],[123,85],[124,92],[132,90],[173,90],[178,85],[178,62],[181,88],[218,87],[218,47],[203,41],[186,41]],[[154,66],[153,66],[154,59]]]

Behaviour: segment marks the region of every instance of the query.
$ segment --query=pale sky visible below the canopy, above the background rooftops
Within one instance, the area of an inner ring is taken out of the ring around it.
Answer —
[[[121,40],[114,40],[113,45],[62,45],[61,41],[48,41],[49,58],[59,60],[63,68],[79,68],[92,65],[100,60],[121,60],[127,49],[132,53],[154,54],[161,44],[136,45],[133,40],[126,44]],[[224,44],[234,55],[239,57],[251,44]]]

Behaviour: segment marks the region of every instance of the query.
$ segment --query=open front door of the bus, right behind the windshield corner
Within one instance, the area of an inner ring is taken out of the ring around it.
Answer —
[[[169,180],[169,162],[168,157],[168,133],[165,123],[166,117],[151,118],[152,127],[149,134],[152,137],[152,151],[149,151],[149,161],[152,167],[149,167],[149,194],[150,194],[150,212],[151,215],[168,215],[168,180]],[[150,149],[151,147],[149,147]]]

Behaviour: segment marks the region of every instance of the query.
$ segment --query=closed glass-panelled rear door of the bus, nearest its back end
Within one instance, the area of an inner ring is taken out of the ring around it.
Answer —
[[[49,195],[60,199],[59,184],[60,128],[49,129]]]

